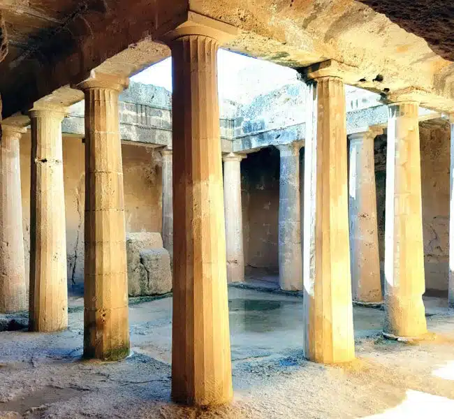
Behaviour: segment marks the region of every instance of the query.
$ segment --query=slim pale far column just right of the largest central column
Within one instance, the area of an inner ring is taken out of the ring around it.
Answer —
[[[240,162],[245,156],[230,153],[224,160],[227,281],[244,281],[243,220]]]

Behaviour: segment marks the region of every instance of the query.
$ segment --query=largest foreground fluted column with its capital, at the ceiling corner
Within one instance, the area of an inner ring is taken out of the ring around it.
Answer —
[[[217,50],[236,29],[189,13],[161,39],[173,59],[172,397],[232,398]]]

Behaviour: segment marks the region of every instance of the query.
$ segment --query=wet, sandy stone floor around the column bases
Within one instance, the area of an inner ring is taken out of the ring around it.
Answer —
[[[381,338],[383,311],[354,308],[358,360],[324,366],[302,358],[302,299],[229,288],[235,400],[215,410],[170,402],[171,297],[131,300],[133,354],[87,362],[82,300],[68,330],[0,333],[0,418],[449,418],[454,411],[454,314],[425,298],[436,338]],[[10,413],[6,413],[10,412]]]

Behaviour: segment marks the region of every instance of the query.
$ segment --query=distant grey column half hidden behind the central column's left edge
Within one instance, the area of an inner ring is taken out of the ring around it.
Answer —
[[[162,241],[173,260],[173,185],[172,149],[163,149],[162,156]]]

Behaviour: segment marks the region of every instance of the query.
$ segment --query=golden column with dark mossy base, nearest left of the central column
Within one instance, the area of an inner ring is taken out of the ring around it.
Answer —
[[[118,95],[127,80],[94,74],[85,94],[84,356],[129,354],[128,279]]]

